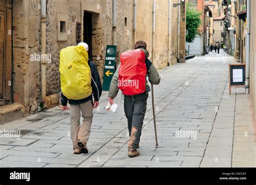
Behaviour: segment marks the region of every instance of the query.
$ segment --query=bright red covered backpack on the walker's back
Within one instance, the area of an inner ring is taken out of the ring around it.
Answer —
[[[118,88],[124,95],[136,95],[146,91],[147,67],[145,53],[130,50],[121,54]]]

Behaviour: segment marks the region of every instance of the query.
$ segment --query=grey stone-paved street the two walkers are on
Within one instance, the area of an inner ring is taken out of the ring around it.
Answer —
[[[73,154],[69,112],[55,107],[0,126],[22,135],[1,138],[0,166],[255,167],[250,101],[244,88],[232,88],[228,95],[229,63],[234,63],[233,57],[221,51],[159,70],[161,83],[154,86],[159,146],[150,93],[138,157],[127,157],[129,134],[120,92],[117,113],[105,110],[103,92],[94,113],[89,154]]]

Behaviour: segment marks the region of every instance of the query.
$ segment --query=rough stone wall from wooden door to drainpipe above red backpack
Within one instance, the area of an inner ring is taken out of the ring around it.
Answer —
[[[112,1],[47,1],[46,95],[60,92],[59,52],[64,47],[77,44],[76,23],[83,24],[83,11],[92,12],[92,59],[98,67],[100,77],[103,78],[105,47],[107,44],[112,44]],[[117,1],[117,12],[117,56],[119,56],[133,45],[132,0]],[[42,102],[41,1],[15,1],[13,19],[16,28],[14,30],[14,101],[21,102],[25,106],[25,113],[31,113],[37,111]],[[60,32],[60,22],[65,22],[65,32]]]

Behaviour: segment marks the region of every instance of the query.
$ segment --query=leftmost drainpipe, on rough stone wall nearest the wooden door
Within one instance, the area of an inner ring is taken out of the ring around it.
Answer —
[[[46,53],[46,0],[41,1],[41,54]],[[46,61],[45,57],[42,57],[41,61],[41,93],[42,102],[45,104],[46,98],[46,81],[45,81],[45,71],[46,71]]]

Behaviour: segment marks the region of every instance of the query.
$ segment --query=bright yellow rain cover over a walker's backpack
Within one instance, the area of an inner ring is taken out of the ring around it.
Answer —
[[[83,46],[62,49],[59,55],[60,87],[66,98],[80,100],[92,94],[91,69]]]

